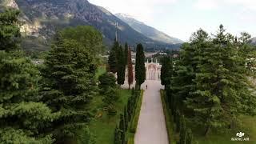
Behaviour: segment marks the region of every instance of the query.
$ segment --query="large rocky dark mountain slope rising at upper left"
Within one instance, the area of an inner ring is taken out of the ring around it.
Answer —
[[[142,43],[146,48],[177,48],[166,42],[158,42],[131,28],[126,22],[101,6],[87,0],[1,0],[2,6],[12,6],[22,12],[24,25],[21,31],[27,36],[26,45],[49,42],[56,30],[67,26],[90,25],[100,30],[104,42],[110,46],[115,38],[115,22],[118,22],[118,41],[131,46]],[[31,38],[33,37],[33,38]],[[45,41],[43,41],[45,39]],[[43,48],[42,48],[43,49]]]

